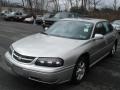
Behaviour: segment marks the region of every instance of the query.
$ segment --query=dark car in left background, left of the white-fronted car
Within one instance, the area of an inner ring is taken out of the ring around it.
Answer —
[[[4,20],[8,21],[22,21],[27,14],[21,13],[21,12],[11,12],[9,14],[6,14],[4,16]]]

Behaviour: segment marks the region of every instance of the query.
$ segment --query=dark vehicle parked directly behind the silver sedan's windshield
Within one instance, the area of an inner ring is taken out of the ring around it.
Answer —
[[[78,18],[79,15],[76,13],[70,13],[70,12],[59,12],[52,18],[47,18],[43,20],[43,27],[49,27],[52,24],[54,24],[56,21],[59,21],[64,18]]]

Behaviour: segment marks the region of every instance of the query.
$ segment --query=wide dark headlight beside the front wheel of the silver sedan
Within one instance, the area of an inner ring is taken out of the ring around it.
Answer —
[[[60,67],[63,66],[64,61],[61,58],[44,57],[44,58],[38,58],[35,64],[38,66]]]

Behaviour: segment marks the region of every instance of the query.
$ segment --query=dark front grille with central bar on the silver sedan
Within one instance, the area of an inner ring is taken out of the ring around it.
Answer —
[[[24,62],[24,63],[30,63],[35,59],[35,57],[24,56],[24,55],[17,53],[16,51],[14,51],[13,53],[13,58],[19,62]]]

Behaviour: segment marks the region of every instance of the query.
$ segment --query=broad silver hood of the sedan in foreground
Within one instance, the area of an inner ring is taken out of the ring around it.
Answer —
[[[86,40],[67,39],[44,34],[35,34],[12,44],[22,55],[34,57],[59,57],[84,44]]]

